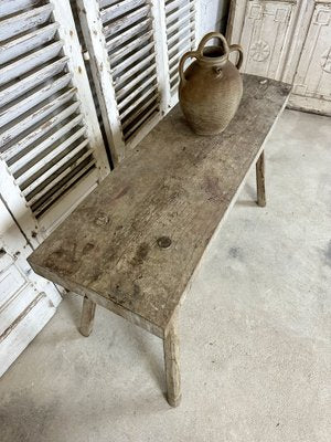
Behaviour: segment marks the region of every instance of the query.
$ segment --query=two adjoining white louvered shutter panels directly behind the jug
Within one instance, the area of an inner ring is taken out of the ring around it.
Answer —
[[[77,0],[77,4],[116,164],[177,102],[179,59],[194,44],[194,2]]]

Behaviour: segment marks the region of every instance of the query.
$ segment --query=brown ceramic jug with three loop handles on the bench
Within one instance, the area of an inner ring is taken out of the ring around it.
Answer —
[[[222,45],[205,46],[214,38],[221,40]],[[228,60],[233,51],[239,53],[236,65]],[[189,57],[195,61],[184,72]],[[228,46],[218,32],[210,32],[201,40],[196,51],[182,56],[179,64],[179,99],[189,125],[196,134],[220,134],[234,117],[243,95],[238,71],[242,63],[242,46]]]

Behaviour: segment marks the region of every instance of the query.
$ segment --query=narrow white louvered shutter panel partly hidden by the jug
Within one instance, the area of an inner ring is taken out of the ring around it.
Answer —
[[[182,55],[195,48],[195,0],[164,0],[168,81],[170,105],[178,102],[178,65]]]

